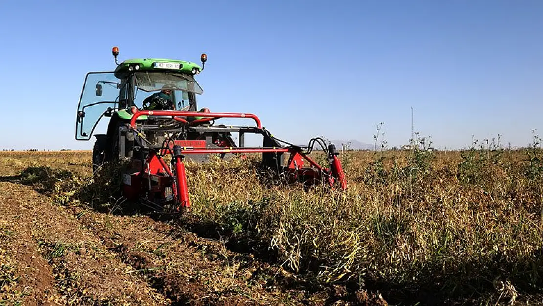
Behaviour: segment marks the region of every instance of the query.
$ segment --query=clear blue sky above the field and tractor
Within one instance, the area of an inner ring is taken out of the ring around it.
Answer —
[[[435,147],[525,146],[543,131],[541,16],[540,0],[3,1],[0,148],[91,149],[75,113],[112,46],[121,60],[207,53],[199,106],[255,113],[295,143],[372,143],[384,122],[403,145],[413,106]]]

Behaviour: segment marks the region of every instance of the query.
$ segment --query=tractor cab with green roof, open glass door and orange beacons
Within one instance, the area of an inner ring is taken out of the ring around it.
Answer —
[[[112,53],[117,64],[118,48],[113,48]],[[206,59],[203,54],[202,63]],[[170,89],[171,110],[197,111],[195,95],[203,93],[203,89],[194,76],[202,70],[187,61],[148,58],[125,60],[111,72],[87,73],[79,99],[75,139],[90,140],[104,116],[112,117],[112,122],[130,120],[137,110],[149,107],[143,104],[147,97],[165,87]]]

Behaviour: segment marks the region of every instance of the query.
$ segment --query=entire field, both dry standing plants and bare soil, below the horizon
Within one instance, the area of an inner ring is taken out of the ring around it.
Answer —
[[[542,302],[541,151],[340,157],[346,192],[190,165],[172,217],[120,201],[90,152],[0,152],[0,304]]]

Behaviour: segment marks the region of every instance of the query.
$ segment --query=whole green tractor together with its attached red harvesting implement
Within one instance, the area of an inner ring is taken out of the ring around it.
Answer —
[[[109,117],[105,134],[94,135],[93,171],[106,162],[124,161],[123,196],[157,210],[190,208],[184,160],[205,162],[211,155],[226,159],[233,154],[262,154],[262,167],[276,178],[301,182],[305,186],[324,183],[346,189],[338,152],[320,138],[308,146],[292,145],[277,139],[249,113],[212,113],[198,109],[197,95],[203,89],[194,77],[201,66],[172,59],[130,59],[117,62],[119,50],[113,47],[117,67],[112,72],[90,72],[77,109],[75,139],[90,140],[103,117]],[[252,120],[254,126],[215,124],[220,118]],[[237,133],[238,141],[232,133]],[[244,135],[262,136],[261,147],[246,147]],[[329,168],[308,157],[315,144],[327,154]],[[168,165],[162,158],[172,155]],[[285,158],[288,155],[288,158]],[[304,161],[308,166],[304,166]]]

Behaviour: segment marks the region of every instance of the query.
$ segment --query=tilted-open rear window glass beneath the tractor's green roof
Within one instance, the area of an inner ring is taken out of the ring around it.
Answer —
[[[136,72],[137,89],[146,92],[159,91],[163,86],[168,85],[174,90],[188,91],[201,94],[204,90],[198,82],[186,74],[168,72]]]

